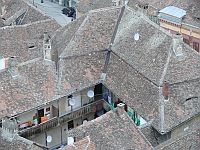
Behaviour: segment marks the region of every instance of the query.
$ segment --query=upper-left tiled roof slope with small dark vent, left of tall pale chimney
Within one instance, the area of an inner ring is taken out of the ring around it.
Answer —
[[[0,28],[0,55],[16,56],[19,62],[43,56],[41,49],[44,32],[52,35],[60,26],[51,19],[21,26]],[[34,46],[29,48],[29,46]]]

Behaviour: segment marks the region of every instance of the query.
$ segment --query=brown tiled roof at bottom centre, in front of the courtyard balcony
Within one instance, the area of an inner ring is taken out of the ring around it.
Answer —
[[[82,138],[80,135],[89,137],[97,150],[153,149],[126,112],[120,112],[111,110],[95,120],[69,130],[68,134],[75,135],[76,138]]]

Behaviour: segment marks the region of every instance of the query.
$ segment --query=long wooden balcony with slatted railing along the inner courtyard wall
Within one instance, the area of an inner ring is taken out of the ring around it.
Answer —
[[[84,116],[84,115],[87,115],[87,114],[93,112],[94,109],[96,108],[96,105],[98,105],[102,102],[105,102],[105,101],[101,99],[98,101],[91,102],[90,104],[85,105],[78,110],[74,110],[74,111],[64,114],[60,117],[54,117],[54,118],[52,118],[44,123],[41,123],[37,126],[32,126],[30,128],[21,130],[18,132],[18,134],[20,136],[26,138],[26,137],[30,137],[34,134],[42,133],[50,128],[59,126],[65,122],[71,121],[73,119],[79,118],[81,116]]]

